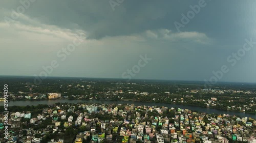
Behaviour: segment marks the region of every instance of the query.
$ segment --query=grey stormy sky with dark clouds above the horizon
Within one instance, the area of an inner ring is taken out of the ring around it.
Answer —
[[[255,7],[253,0],[3,0],[0,75],[256,82]]]

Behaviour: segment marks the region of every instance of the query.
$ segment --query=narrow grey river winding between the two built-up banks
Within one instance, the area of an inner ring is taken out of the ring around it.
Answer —
[[[244,112],[234,112],[234,111],[227,111],[227,110],[218,110],[212,108],[204,108],[198,106],[189,106],[189,105],[177,105],[177,104],[167,104],[167,103],[154,103],[154,102],[134,102],[134,101],[98,101],[98,100],[68,100],[68,99],[57,99],[57,100],[42,100],[42,101],[10,101],[8,102],[8,106],[27,106],[27,105],[38,105],[38,104],[48,104],[52,105],[55,103],[104,103],[104,104],[134,104],[136,106],[139,105],[146,105],[146,106],[165,106],[165,107],[175,107],[175,108],[182,108],[182,109],[189,109],[189,110],[196,110],[200,112],[206,113],[217,113],[217,114],[228,114],[228,115],[236,115],[240,117],[251,117],[256,119],[255,113],[244,113]],[[0,106],[4,106],[4,102],[0,102]]]

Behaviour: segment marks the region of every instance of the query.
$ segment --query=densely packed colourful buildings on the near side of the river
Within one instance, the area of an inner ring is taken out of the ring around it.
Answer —
[[[9,142],[256,142],[252,118],[134,104],[10,106],[8,126]]]

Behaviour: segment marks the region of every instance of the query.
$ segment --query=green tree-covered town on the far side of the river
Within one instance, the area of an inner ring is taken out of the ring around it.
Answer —
[[[11,90],[8,101],[40,102],[52,99],[140,101],[256,113],[255,84],[219,83],[211,89],[205,89],[201,82],[68,79],[48,78],[40,85],[28,84],[28,81],[32,80],[29,78],[12,79],[14,81],[9,84]],[[0,83],[4,84],[4,81],[0,80]],[[0,96],[0,101],[4,101],[4,96]]]

